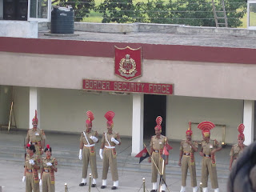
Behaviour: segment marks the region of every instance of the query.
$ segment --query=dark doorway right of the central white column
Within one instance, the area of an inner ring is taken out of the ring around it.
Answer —
[[[155,119],[162,117],[162,134],[166,135],[166,95],[144,95],[144,128],[143,138],[154,135]]]

